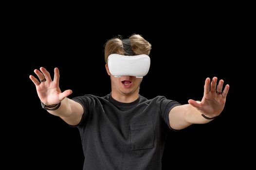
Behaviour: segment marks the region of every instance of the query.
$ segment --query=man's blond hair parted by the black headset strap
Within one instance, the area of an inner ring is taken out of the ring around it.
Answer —
[[[132,34],[129,37],[131,49],[134,55],[146,54],[149,55],[151,50],[151,44],[146,41],[139,34]],[[118,36],[111,38],[105,44],[105,62],[108,63],[108,57],[110,54],[121,54],[125,55],[125,50],[122,42],[122,37]]]

